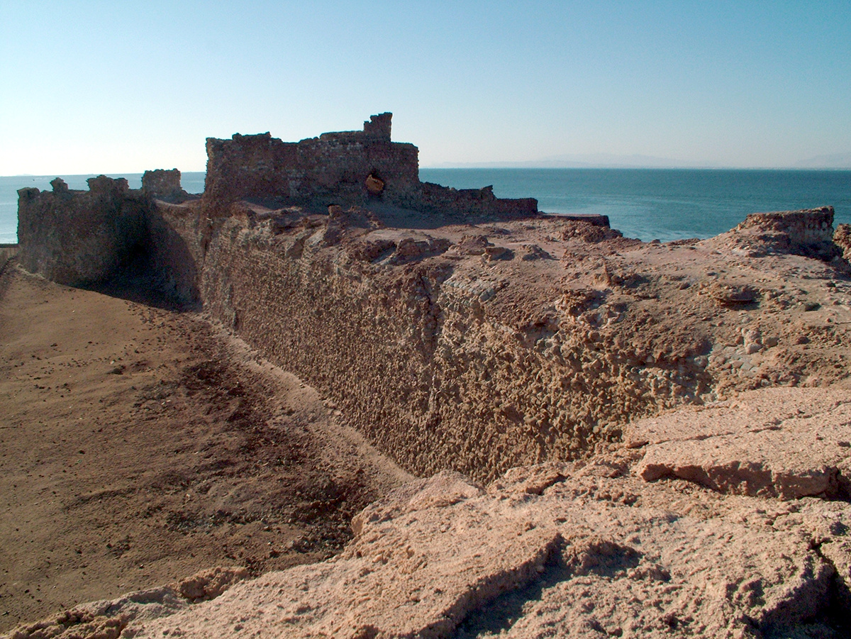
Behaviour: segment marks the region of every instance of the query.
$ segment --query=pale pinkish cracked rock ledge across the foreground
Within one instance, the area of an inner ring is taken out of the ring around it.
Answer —
[[[447,471],[409,483],[355,517],[339,556],[208,602],[185,583],[11,636],[848,636],[851,507],[836,483],[802,494],[848,477],[849,421],[848,385],[749,391],[637,421],[636,448],[487,488]],[[777,445],[797,436],[820,443]],[[657,479],[666,456],[691,476]],[[798,488],[775,496],[760,474]]]

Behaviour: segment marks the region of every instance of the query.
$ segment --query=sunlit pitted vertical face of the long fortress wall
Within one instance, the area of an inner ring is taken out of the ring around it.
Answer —
[[[414,473],[488,481],[585,456],[630,417],[705,391],[683,361],[643,366],[641,339],[601,337],[557,311],[486,317],[482,291],[449,260],[374,265],[319,217],[277,233],[227,218],[201,270],[204,307]]]

